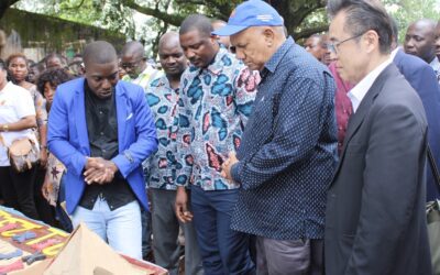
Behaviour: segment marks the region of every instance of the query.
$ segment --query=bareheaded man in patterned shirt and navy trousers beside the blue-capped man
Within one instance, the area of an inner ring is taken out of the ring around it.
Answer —
[[[220,47],[212,31],[209,19],[200,14],[186,18],[179,30],[190,66],[182,75],[178,100],[176,140],[182,165],[176,165],[176,213],[182,222],[190,221],[194,213],[206,274],[245,275],[255,270],[249,235],[230,226],[239,186],[220,173],[228,153],[241,143],[260,78]],[[189,183],[193,213],[184,187]]]

